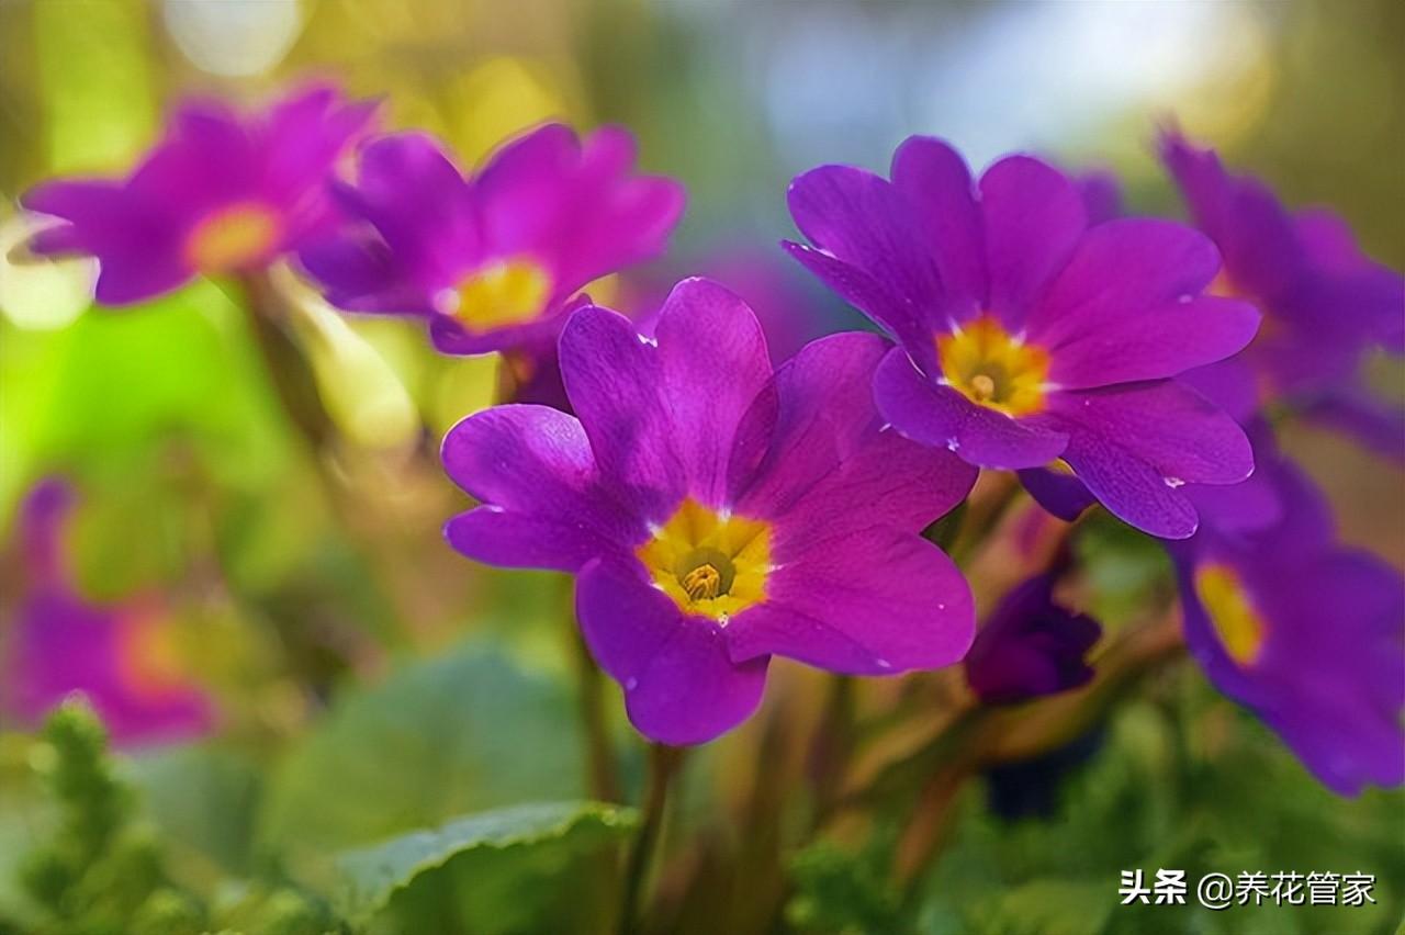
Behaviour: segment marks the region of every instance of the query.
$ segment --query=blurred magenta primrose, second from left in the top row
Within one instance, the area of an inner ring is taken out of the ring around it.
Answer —
[[[362,152],[357,184],[336,188],[364,223],[302,263],[336,306],[424,316],[448,354],[552,340],[568,299],[660,254],[683,213],[683,188],[634,174],[634,150],[618,128],[580,142],[549,124],[465,178],[429,136],[386,136]]]

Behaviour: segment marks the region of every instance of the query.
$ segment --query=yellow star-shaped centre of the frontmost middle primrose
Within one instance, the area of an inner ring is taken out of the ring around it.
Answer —
[[[635,555],[684,614],[728,619],[766,599],[771,528],[684,500]]]

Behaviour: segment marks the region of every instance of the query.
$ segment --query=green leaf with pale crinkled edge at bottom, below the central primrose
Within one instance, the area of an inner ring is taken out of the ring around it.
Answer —
[[[384,913],[391,931],[427,931],[430,920],[436,931],[551,931],[551,920],[589,931],[590,901],[613,890],[592,886],[613,876],[601,877],[611,862],[600,858],[635,824],[634,810],[594,802],[468,816],[344,852],[336,903],[353,921]]]

